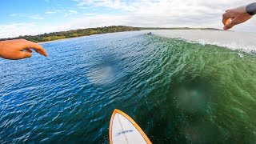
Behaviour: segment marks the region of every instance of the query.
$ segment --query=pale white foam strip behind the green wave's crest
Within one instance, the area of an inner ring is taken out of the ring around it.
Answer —
[[[152,30],[167,38],[184,38],[202,45],[223,46],[231,50],[256,51],[256,33],[215,30]]]

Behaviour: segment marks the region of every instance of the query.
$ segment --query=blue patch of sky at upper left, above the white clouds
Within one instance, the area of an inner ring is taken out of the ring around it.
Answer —
[[[36,22],[60,24],[84,14],[118,13],[105,7],[78,6],[72,0],[2,0],[0,9],[1,25]]]

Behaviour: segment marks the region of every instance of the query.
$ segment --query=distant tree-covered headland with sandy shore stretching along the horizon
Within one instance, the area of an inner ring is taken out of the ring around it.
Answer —
[[[48,34],[38,34],[38,35],[24,35],[16,38],[0,38],[0,41],[10,40],[10,39],[26,39],[32,42],[49,42],[65,38],[77,38],[82,36],[89,36],[93,34],[106,34],[115,33],[122,31],[135,31],[135,30],[219,30],[215,28],[190,28],[190,27],[133,27],[133,26],[104,26],[97,28],[88,29],[78,29],[78,30],[68,30],[53,32]]]

